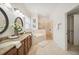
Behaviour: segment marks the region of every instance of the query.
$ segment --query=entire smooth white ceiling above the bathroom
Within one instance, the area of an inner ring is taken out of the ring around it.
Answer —
[[[27,13],[27,10],[31,13],[36,13],[40,15],[51,15],[54,12],[60,12],[62,9],[67,10],[67,8],[72,8],[75,3],[20,3],[12,4],[14,7],[18,6],[20,9],[23,9],[24,13]]]

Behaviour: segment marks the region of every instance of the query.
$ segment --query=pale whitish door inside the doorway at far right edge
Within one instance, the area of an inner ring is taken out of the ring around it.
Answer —
[[[74,15],[74,45],[79,45],[79,15]]]

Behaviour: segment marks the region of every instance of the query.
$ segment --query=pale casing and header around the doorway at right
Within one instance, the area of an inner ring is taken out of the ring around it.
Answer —
[[[67,31],[67,20],[68,20],[68,15],[74,15],[74,14],[77,14],[79,13],[79,5],[76,6],[75,8],[73,8],[71,11],[65,13],[65,45],[66,45],[66,48],[65,50],[69,50],[69,47],[68,47],[68,31]]]

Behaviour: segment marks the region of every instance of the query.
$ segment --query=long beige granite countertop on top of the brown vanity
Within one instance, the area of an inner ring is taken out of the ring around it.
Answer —
[[[29,35],[31,35],[31,33],[19,35],[19,38],[17,38],[17,39],[6,39],[6,40],[3,40],[2,42],[0,42],[0,46],[1,45],[5,46],[5,47],[0,48],[0,55],[4,54],[5,52],[7,52],[8,50],[10,50],[14,46],[16,46],[16,48],[19,48],[18,44],[16,44],[16,43],[17,42],[18,43],[21,42],[22,40],[24,40]]]

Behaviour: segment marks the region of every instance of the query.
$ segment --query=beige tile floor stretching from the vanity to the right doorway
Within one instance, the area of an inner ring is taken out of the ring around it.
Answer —
[[[78,51],[64,51],[53,40],[42,41],[31,47],[29,55],[78,55]]]

